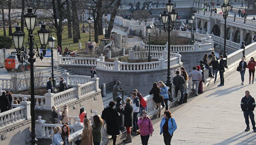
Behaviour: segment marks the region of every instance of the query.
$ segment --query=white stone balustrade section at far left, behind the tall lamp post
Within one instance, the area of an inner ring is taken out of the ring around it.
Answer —
[[[0,129],[9,125],[18,124],[20,121],[31,119],[30,101],[24,98],[20,105],[12,104],[13,109],[0,113]]]

